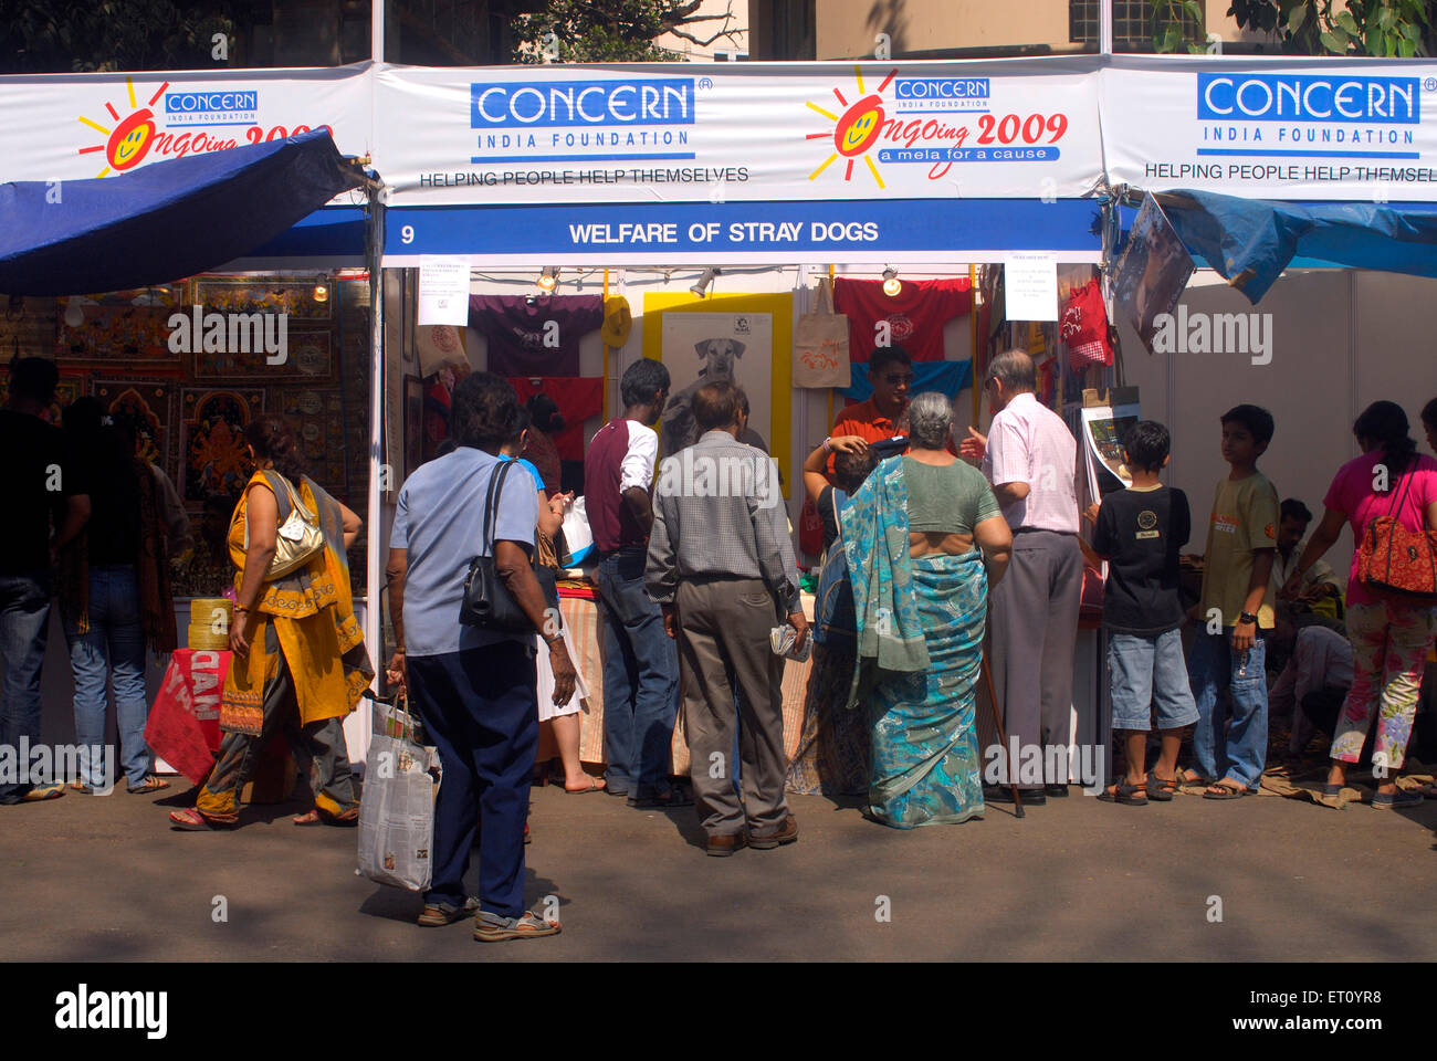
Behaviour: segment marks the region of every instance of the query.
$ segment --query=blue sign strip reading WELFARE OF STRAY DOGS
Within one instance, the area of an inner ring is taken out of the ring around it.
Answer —
[[[1092,200],[935,198],[786,203],[573,203],[391,207],[387,254],[785,253],[842,260],[852,252],[1101,250]],[[798,259],[795,259],[798,260]]]

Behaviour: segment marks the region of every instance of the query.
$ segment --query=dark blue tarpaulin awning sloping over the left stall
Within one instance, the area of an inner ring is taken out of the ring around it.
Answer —
[[[364,183],[328,129],[119,177],[0,184],[0,293],[168,283],[241,257]]]

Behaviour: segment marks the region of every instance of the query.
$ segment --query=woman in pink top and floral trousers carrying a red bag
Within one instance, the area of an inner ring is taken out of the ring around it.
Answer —
[[[1398,792],[1391,772],[1403,765],[1413,733],[1423,667],[1437,631],[1437,608],[1380,595],[1358,579],[1358,546],[1369,520],[1395,515],[1408,530],[1437,530],[1437,460],[1418,456],[1407,434],[1407,414],[1392,401],[1374,401],[1352,424],[1362,456],[1338,469],[1328,496],[1326,515],[1298,561],[1298,571],[1282,597],[1298,592],[1302,574],[1352,525],[1352,571],[1348,579],[1348,640],[1352,643],[1352,689],[1332,738],[1332,769],[1325,795],[1335,796],[1346,784],[1367,739],[1372,713],[1377,743],[1372,750],[1378,776],[1374,807],[1420,804],[1420,794]],[[1385,769],[1384,769],[1385,766]]]

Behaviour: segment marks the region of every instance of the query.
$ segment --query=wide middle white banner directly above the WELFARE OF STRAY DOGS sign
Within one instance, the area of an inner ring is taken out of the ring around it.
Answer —
[[[1094,59],[385,68],[391,206],[1076,198]]]

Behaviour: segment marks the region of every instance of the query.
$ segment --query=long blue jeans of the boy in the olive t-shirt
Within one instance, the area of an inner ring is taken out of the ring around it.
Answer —
[[[1200,773],[1256,788],[1267,761],[1267,643],[1259,631],[1253,647],[1239,654],[1232,650],[1232,635],[1229,627],[1221,634],[1204,630],[1193,638],[1187,661],[1197,700],[1193,752]],[[1232,693],[1233,709],[1224,735],[1226,692]]]

